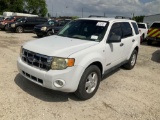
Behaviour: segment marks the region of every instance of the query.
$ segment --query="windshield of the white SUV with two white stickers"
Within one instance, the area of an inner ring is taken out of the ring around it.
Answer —
[[[94,20],[75,20],[67,24],[58,35],[69,38],[100,42],[105,35],[107,27],[108,22]]]

